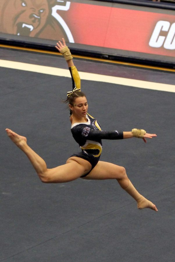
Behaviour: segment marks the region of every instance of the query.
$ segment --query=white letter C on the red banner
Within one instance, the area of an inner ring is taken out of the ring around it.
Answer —
[[[168,31],[170,23],[168,21],[158,21],[151,39],[149,41],[149,46],[151,47],[161,47],[165,40],[165,36],[159,36],[161,31]]]

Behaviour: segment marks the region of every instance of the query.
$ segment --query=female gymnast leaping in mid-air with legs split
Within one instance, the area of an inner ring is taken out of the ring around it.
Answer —
[[[138,137],[146,143],[146,138],[156,137],[156,134],[148,134],[143,129],[133,129],[131,132],[102,131],[97,120],[87,113],[88,103],[85,94],[81,92],[78,71],[64,38],[62,40],[63,43],[59,41],[56,49],[63,54],[72,77],[73,91],[67,92],[66,102],[69,102],[71,132],[81,152],[71,155],[66,164],[48,169],[44,160],[28,146],[26,137],[6,128],[8,136],[27,155],[43,183],[64,183],[80,177],[97,180],[117,179],[119,185],[135,199],[139,209],[151,208],[158,211],[153,203],[135,189],[124,167],[99,161],[102,151],[101,139]]]

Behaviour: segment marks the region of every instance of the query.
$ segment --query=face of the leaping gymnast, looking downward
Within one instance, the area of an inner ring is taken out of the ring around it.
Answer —
[[[77,97],[74,101],[74,105],[69,105],[69,107],[72,110],[73,114],[76,114],[78,117],[86,116],[86,113],[88,111],[88,102],[86,97]]]

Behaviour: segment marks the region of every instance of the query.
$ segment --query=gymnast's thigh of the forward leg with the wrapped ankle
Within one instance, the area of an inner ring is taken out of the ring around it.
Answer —
[[[99,161],[97,165],[90,171],[90,173],[83,177],[83,179],[120,179],[122,178],[123,174],[126,174],[124,167]]]

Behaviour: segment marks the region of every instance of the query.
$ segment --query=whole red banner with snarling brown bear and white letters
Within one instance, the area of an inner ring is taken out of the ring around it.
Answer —
[[[127,50],[175,56],[174,15],[157,8],[109,5],[100,1],[0,0],[0,32],[43,41],[64,37],[69,43],[109,48],[113,54]]]

